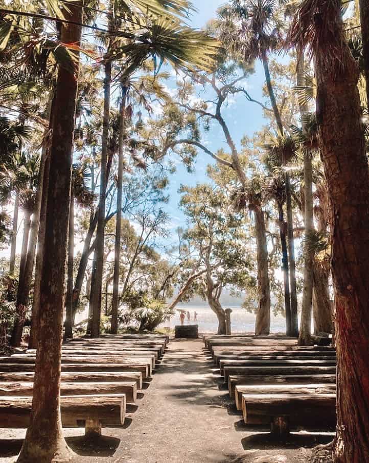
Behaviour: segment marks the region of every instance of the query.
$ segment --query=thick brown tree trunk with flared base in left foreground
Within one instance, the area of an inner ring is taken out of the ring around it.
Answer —
[[[81,2],[68,4],[67,20],[82,22]],[[80,43],[81,27],[61,27],[61,41]],[[30,425],[18,463],[62,463],[73,457],[60,418],[60,374],[66,241],[71,192],[71,167],[77,101],[78,68],[75,74],[59,67],[53,136],[44,259],[41,311]]]

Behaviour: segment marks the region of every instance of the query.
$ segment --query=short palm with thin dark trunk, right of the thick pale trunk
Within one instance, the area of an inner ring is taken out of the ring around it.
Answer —
[[[288,252],[287,252],[287,224],[284,219],[283,206],[286,204],[286,185],[284,176],[274,174],[267,182],[265,189],[265,199],[274,200],[278,209],[278,224],[280,229],[281,248],[282,248],[282,270],[285,295],[286,311],[286,333],[291,332],[291,303],[290,303],[290,285],[288,273]]]

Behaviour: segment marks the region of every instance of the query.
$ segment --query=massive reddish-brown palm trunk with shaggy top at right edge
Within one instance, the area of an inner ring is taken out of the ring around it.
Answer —
[[[317,80],[317,120],[331,206],[332,275],[336,290],[336,463],[369,458],[369,173],[357,87],[359,69],[340,0],[303,0],[288,34],[308,47]]]

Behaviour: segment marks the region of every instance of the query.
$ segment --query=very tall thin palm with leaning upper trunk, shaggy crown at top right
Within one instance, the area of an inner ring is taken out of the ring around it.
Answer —
[[[269,57],[281,47],[282,22],[279,6],[284,2],[278,0],[236,0],[219,8],[219,30],[222,42],[227,43],[230,50],[247,62],[260,59],[264,67],[264,74],[268,95],[272,106],[278,135],[283,137],[285,130],[281,118],[281,110],[276,103],[275,92],[270,78]],[[284,161],[284,162],[287,162]],[[297,336],[297,291],[295,272],[295,252],[293,239],[292,200],[289,174],[285,172],[286,205],[288,224],[289,272],[290,272],[290,300],[291,300],[291,332]]]

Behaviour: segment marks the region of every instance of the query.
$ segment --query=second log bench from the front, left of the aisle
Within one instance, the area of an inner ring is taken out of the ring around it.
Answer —
[[[0,381],[0,396],[32,396],[33,382]],[[65,382],[61,381],[62,396],[84,396],[95,394],[125,395],[127,403],[135,403],[137,384],[135,382]]]

